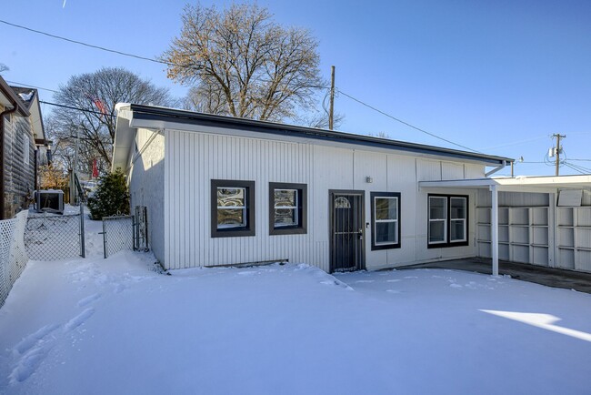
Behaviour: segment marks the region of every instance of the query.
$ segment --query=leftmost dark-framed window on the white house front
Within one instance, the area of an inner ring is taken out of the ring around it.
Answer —
[[[211,180],[211,237],[255,236],[255,181]]]

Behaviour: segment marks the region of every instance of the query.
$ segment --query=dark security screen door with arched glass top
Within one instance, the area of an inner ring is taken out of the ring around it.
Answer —
[[[331,190],[330,271],[365,268],[363,191]]]

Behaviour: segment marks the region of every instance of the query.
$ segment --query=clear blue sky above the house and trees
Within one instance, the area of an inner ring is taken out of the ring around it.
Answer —
[[[218,6],[231,2],[215,2]],[[202,5],[212,2],[202,1]],[[185,1],[5,2],[0,19],[96,46],[159,56],[181,28]],[[553,175],[551,135],[566,135],[568,163],[591,169],[591,2],[498,0],[259,1],[283,25],[319,41],[326,80],[368,105],[486,154],[524,157],[517,175]],[[0,23],[6,80],[55,89],[70,76],[124,66],[175,96],[187,88],[164,66],[36,35]],[[341,130],[456,147],[344,94]],[[40,90],[42,100],[52,92]],[[44,111],[49,111],[49,106]],[[457,147],[456,147],[457,148]],[[581,161],[574,159],[589,159]],[[591,171],[589,171],[591,173]],[[507,174],[508,171],[503,171]],[[561,174],[579,174],[563,166]]]

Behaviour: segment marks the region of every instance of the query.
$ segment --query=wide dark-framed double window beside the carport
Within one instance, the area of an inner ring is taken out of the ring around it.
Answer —
[[[429,248],[468,245],[468,197],[429,195],[427,242]]]

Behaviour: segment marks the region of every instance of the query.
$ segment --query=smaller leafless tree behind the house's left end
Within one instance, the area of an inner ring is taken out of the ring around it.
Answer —
[[[167,89],[156,87],[122,67],[104,67],[95,73],[72,76],[65,86],[59,87],[54,101],[60,107],[54,110],[51,122],[65,162],[72,159],[75,137],[79,137],[79,162],[92,166],[92,158],[99,157],[106,168],[111,165],[117,103],[173,103]]]

